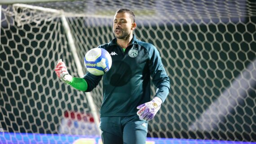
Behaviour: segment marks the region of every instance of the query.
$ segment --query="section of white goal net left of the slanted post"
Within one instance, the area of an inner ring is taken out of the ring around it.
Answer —
[[[78,77],[60,19],[26,18],[18,26],[12,6],[2,11],[0,127],[10,132],[58,133],[64,117],[90,122],[84,93],[60,82],[54,72],[56,60],[62,58]],[[88,129],[78,134],[96,134],[95,127]]]

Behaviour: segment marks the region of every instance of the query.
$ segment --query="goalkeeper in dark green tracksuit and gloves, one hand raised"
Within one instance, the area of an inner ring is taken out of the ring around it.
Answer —
[[[161,57],[154,45],[136,39],[135,15],[119,9],[113,20],[115,39],[98,48],[111,53],[111,69],[103,76],[87,73],[72,77],[66,65],[58,61],[57,76],[65,83],[90,92],[103,77],[103,101],[100,128],[103,144],[145,144],[148,121],[154,118],[168,96],[170,83]],[[150,100],[150,76],[156,94]]]

